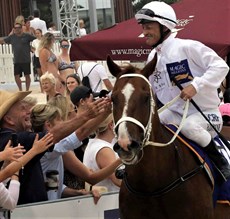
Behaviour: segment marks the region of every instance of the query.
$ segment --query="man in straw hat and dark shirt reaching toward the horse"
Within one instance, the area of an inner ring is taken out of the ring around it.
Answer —
[[[30,123],[30,112],[25,107],[23,99],[30,94],[30,91],[10,93],[0,90],[0,151],[11,138],[12,133],[17,133],[18,142],[28,151],[34,142],[36,134],[25,131]],[[104,112],[110,106],[109,100],[98,99],[89,104],[86,111],[76,115],[71,120],[54,126],[50,132],[53,134],[53,143],[59,142],[64,137],[73,133],[88,120]],[[43,137],[46,132],[38,133]],[[44,153],[33,158],[20,172],[20,195],[18,204],[33,203],[47,200],[47,192],[44,178],[41,171],[40,158]]]

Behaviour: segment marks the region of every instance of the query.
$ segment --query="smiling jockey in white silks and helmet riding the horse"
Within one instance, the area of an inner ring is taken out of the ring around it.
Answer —
[[[156,69],[149,77],[158,100],[166,104],[177,95],[181,97],[160,113],[161,122],[179,125],[184,101],[193,99],[212,125],[220,131],[223,121],[218,109],[220,99],[217,88],[229,71],[225,61],[198,41],[175,38],[172,30],[177,25],[176,14],[164,2],[153,1],[146,4],[135,18],[143,28],[146,43],[153,48],[148,62],[155,55],[158,57]],[[172,82],[175,80],[182,85],[182,91]],[[213,141],[216,131],[191,103],[181,132],[203,147],[225,181],[230,178],[230,165]]]

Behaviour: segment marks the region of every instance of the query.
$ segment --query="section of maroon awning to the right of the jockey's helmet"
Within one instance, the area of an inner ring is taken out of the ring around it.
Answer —
[[[184,0],[172,6],[180,19],[177,28],[184,28],[177,37],[198,40],[222,57],[229,53],[229,0]]]

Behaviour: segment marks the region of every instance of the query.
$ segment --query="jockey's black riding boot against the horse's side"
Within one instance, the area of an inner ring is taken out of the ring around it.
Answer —
[[[210,143],[204,147],[204,151],[219,170],[224,181],[227,181],[230,178],[230,165],[224,155],[217,150],[215,142],[211,140]]]

